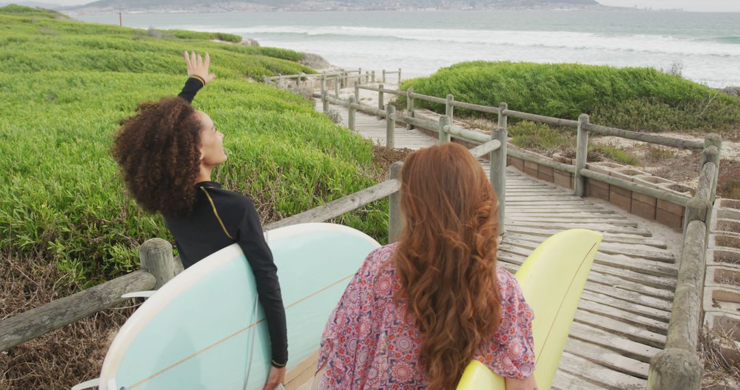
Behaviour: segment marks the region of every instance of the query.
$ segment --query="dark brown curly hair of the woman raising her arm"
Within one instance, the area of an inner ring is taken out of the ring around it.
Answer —
[[[111,154],[144,211],[166,217],[192,211],[201,127],[195,109],[181,98],[141,103],[134,116],[121,120]]]

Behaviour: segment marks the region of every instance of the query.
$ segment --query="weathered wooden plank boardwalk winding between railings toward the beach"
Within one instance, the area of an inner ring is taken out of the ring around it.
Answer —
[[[346,109],[331,109],[346,125]],[[385,120],[357,112],[355,125],[364,137],[385,144]],[[395,143],[417,149],[436,140],[397,127]],[[582,227],[604,235],[552,388],[645,389],[650,357],[665,343],[676,286],[676,258],[666,242],[617,208],[596,205],[511,167],[505,203],[499,262],[512,273],[540,242],[561,230]],[[303,379],[289,387],[307,389],[309,383]]]

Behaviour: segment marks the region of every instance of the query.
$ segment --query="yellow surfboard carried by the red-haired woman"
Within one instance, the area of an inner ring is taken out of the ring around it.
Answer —
[[[539,244],[519,268],[516,278],[534,310],[534,377],[539,389],[550,389],[565,341],[571,331],[583,286],[602,235],[571,229]],[[457,390],[505,390],[504,378],[473,360]]]

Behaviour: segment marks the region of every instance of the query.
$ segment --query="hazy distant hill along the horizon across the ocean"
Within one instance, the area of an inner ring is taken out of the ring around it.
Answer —
[[[221,10],[502,10],[602,7],[596,0],[98,0],[73,7],[96,10],[198,12]]]

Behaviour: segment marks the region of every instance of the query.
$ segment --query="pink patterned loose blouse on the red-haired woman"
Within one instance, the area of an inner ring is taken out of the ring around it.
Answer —
[[[403,301],[394,304],[400,287],[391,261],[396,247],[369,254],[329,316],[321,338],[318,366],[326,372],[319,389],[425,389],[420,334],[406,318]],[[502,318],[475,358],[504,377],[525,378],[534,372],[534,313],[514,276],[502,268],[497,273]]]

